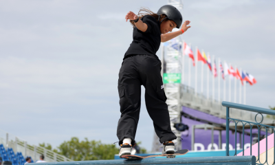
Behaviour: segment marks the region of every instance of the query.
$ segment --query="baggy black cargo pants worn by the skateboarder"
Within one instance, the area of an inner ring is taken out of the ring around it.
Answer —
[[[163,143],[177,138],[171,131],[160,71],[161,62],[154,56],[135,55],[124,59],[118,78],[121,112],[117,129],[119,144],[122,144],[124,138],[131,138],[132,144],[135,144],[140,118],[141,85],[145,87],[146,109],[153,120],[159,141]]]

